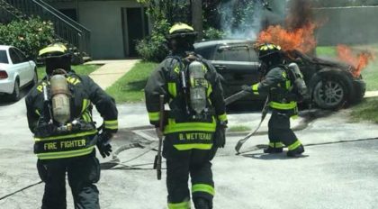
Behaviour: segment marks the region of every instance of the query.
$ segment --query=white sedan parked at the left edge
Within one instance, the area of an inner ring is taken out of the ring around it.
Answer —
[[[0,95],[10,95],[17,101],[21,88],[37,82],[35,62],[15,47],[0,45]]]

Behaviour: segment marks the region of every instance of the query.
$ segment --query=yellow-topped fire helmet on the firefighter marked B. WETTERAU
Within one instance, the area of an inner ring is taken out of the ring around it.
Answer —
[[[185,23],[175,23],[166,35],[171,50],[193,50],[193,43],[198,32]]]

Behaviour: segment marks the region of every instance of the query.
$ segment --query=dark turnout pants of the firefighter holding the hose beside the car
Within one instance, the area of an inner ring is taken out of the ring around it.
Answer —
[[[268,123],[269,147],[295,150],[301,146],[301,141],[290,128],[291,114],[288,111],[273,109],[272,116]]]

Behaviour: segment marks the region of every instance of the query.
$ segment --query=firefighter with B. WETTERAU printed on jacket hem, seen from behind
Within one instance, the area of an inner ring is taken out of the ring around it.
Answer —
[[[169,105],[163,157],[166,158],[168,208],[191,206],[189,175],[195,208],[212,208],[214,183],[211,159],[224,147],[227,114],[220,76],[207,60],[193,52],[193,28],[176,23],[167,36],[171,54],[149,77],[145,88],[149,121],[158,127],[159,95]]]

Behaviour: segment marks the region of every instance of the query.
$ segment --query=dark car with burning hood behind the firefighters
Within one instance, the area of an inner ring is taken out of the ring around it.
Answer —
[[[255,50],[256,41],[203,41],[194,45],[195,52],[209,59],[223,79],[225,97],[240,91],[242,85],[257,83],[261,77]],[[356,103],[365,95],[365,82],[354,73],[356,68],[345,63],[311,57],[299,50],[286,52],[288,62],[301,68],[313,101],[320,108],[336,109],[343,104]],[[263,100],[247,96],[239,103]]]

